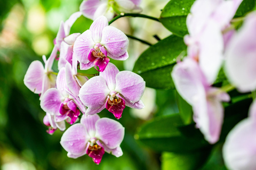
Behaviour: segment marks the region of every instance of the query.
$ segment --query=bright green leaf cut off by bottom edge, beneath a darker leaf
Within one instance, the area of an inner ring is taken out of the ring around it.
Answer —
[[[198,169],[206,162],[211,148],[192,152],[163,152],[162,170],[193,170]]]

